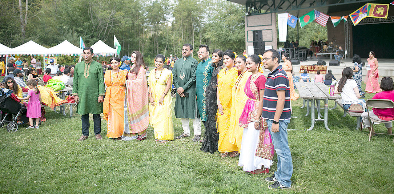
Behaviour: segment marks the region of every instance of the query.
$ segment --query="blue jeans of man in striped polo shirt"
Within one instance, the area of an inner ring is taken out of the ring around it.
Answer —
[[[271,135],[273,147],[278,156],[277,171],[274,173],[275,179],[286,187],[292,185],[290,178],[293,174],[292,153],[290,152],[289,142],[287,141],[287,125],[290,120],[279,120],[279,132],[272,132],[272,121],[267,119],[269,134]]]

